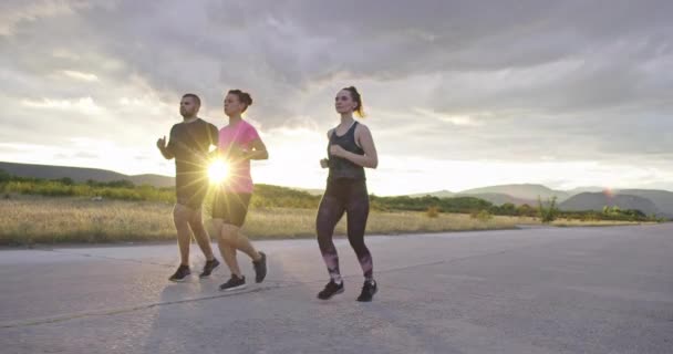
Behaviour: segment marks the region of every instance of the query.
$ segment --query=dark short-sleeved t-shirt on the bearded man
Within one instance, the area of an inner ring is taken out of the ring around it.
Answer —
[[[175,156],[175,187],[178,196],[203,201],[208,189],[208,152],[217,146],[217,127],[201,118],[170,128],[167,149]],[[203,196],[201,196],[203,195]]]

